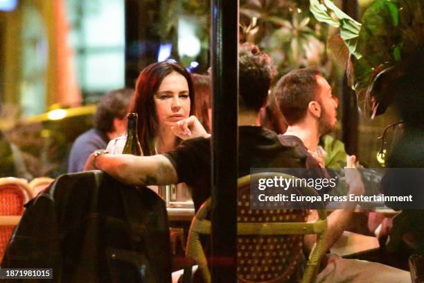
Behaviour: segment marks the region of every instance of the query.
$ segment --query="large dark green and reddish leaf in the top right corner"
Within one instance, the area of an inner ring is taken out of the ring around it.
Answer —
[[[423,6],[422,0],[376,0],[364,12],[356,48],[363,57],[352,60],[352,69],[355,91],[365,94],[371,118],[391,102],[387,85],[398,74],[392,67],[423,48]]]

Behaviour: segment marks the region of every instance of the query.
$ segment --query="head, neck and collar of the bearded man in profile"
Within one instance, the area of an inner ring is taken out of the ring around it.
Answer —
[[[333,132],[337,122],[337,102],[326,79],[315,69],[295,69],[279,80],[274,95],[288,123],[279,136],[283,144],[297,145],[321,160],[315,153],[319,137]]]

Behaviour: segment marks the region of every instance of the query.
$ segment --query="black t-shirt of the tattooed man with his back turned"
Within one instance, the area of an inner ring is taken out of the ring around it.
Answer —
[[[195,209],[211,196],[210,139],[188,139],[174,151],[164,154],[177,171],[178,182],[191,189]],[[277,135],[257,126],[240,126],[238,177],[251,168],[306,168],[306,158],[297,146],[281,144]]]

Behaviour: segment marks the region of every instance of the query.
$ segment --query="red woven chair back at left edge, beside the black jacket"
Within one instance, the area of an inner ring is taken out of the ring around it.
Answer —
[[[13,230],[24,213],[24,204],[31,198],[33,193],[26,180],[0,178],[0,262]]]

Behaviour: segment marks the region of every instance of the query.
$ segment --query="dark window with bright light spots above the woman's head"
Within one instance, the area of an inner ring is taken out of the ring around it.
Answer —
[[[127,85],[141,69],[173,59],[199,74],[209,68],[209,1],[126,1]]]

